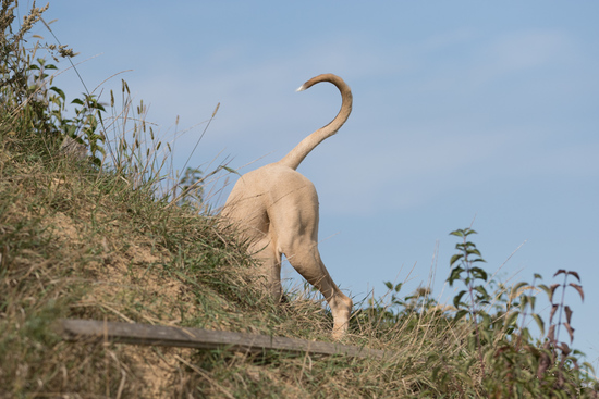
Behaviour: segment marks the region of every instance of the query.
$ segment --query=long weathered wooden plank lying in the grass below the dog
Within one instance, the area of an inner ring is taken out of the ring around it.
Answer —
[[[357,358],[384,358],[391,352],[341,344],[274,337],[258,334],[170,327],[96,320],[61,320],[60,333],[66,340],[112,341],[134,345],[225,349],[239,352],[305,352],[343,354]]]

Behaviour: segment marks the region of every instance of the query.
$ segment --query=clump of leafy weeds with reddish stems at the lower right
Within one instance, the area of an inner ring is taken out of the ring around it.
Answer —
[[[535,274],[533,284],[521,282],[506,288],[489,292],[487,272],[479,266],[485,260],[469,236],[476,234],[472,228],[457,229],[451,235],[462,238],[456,244],[459,250],[451,258],[450,285],[457,282],[465,286],[453,298],[453,323],[472,325],[470,332],[462,339],[465,342],[464,359],[460,359],[455,369],[439,366],[433,371],[442,384],[455,389],[451,383],[456,377],[463,382],[460,390],[463,395],[481,397],[597,397],[594,388],[596,381],[592,366],[585,362],[580,370],[579,351],[571,350],[569,345],[560,342],[559,331],[563,326],[570,340],[574,339],[571,326],[572,310],[564,303],[563,292],[572,287],[584,299],[583,287],[579,284],[566,285],[567,276],[574,276],[579,282],[576,272],[560,270],[554,277],[564,275],[563,284],[550,287],[536,285],[542,277]],[[560,302],[554,302],[554,292],[562,289]],[[531,317],[545,334],[545,322],[535,312],[537,292],[545,291],[551,302],[549,331],[542,344],[535,340],[527,317]],[[559,314],[555,323],[555,314]],[[565,321],[562,322],[562,314]],[[456,359],[444,359],[455,362]],[[449,371],[449,372],[448,372]],[[456,373],[456,374],[455,374]],[[441,384],[441,386],[443,386]]]

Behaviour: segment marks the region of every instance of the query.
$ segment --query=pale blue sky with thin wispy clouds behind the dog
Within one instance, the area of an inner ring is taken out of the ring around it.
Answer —
[[[319,192],[320,251],[335,282],[358,301],[383,295],[386,280],[407,280],[407,295],[432,267],[444,301],[449,233],[476,216],[474,240],[501,279],[540,273],[549,285],[559,269],[579,272],[585,302],[566,296],[574,346],[596,366],[597,15],[597,1],[546,0],[61,0],[45,14],[76,60],[98,55],[78,66],[89,88],[133,70],[103,84],[105,101],[122,77],[162,134],[178,116],[191,128],[174,142],[178,167],[219,102],[192,166],[230,157],[247,172],[279,160],[340,105],[331,85],[295,89],[342,76],[354,111],[300,166]],[[56,84],[83,91],[72,72]]]

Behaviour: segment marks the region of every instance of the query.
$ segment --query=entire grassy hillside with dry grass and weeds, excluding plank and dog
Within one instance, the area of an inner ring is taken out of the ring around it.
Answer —
[[[426,288],[403,297],[401,284],[358,303],[343,344],[394,353],[384,360],[64,341],[60,319],[330,341],[332,317],[309,289],[283,304],[254,289],[245,244],[203,202],[210,173],[172,171],[125,82],[69,113],[52,73],[75,53],[32,45],[45,10],[14,21],[14,5],[0,15],[0,398],[597,398],[569,347],[572,312],[554,300],[584,297],[579,276],[505,287],[480,266],[470,228],[452,233],[451,307]],[[553,303],[548,321],[538,295]]]

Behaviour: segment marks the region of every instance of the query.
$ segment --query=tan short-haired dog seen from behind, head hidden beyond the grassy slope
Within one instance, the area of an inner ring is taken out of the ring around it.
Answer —
[[[234,222],[249,250],[261,262],[272,298],[283,298],[281,255],[325,296],[334,320],[333,337],[347,329],[352,300],[334,284],[318,252],[318,196],[310,180],[296,171],[306,155],[327,137],[334,135],[352,112],[352,91],[339,76],[313,77],[297,91],[320,82],[330,82],[341,91],[342,104],[335,119],[303,139],[279,162],[243,175],[223,208],[223,216]]]

